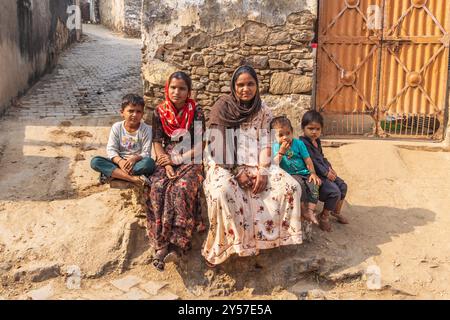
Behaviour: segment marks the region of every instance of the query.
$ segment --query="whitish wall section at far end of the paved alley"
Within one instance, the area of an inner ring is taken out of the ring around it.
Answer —
[[[142,0],[97,0],[100,22],[130,37],[141,36]]]

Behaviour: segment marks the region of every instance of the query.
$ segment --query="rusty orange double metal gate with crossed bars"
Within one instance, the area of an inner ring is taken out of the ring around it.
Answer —
[[[320,0],[325,134],[442,139],[450,0]]]

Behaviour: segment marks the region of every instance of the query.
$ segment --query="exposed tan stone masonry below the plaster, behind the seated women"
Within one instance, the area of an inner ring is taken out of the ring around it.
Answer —
[[[263,8],[259,10],[264,14]],[[214,26],[217,17],[200,17],[200,24],[181,25],[172,37],[167,37],[170,31],[157,25],[158,14],[163,13],[155,12],[144,1],[143,77],[150,110],[164,98],[168,76],[183,70],[193,80],[193,97],[208,115],[217,98],[230,92],[235,68],[247,64],[256,69],[263,100],[273,113],[287,115],[299,130],[301,116],[311,105],[315,54],[310,44],[315,35],[315,13],[291,10],[276,23],[248,16],[233,18],[237,23],[227,30]],[[165,14],[170,20],[167,15],[173,15],[173,11],[166,10]],[[222,14],[220,19],[226,20],[226,14]],[[155,38],[162,41],[155,43]]]

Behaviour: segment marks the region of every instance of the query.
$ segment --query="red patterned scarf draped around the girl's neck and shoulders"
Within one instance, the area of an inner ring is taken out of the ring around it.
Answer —
[[[196,103],[190,98],[190,93],[181,110],[177,110],[169,99],[169,81],[165,87],[165,101],[158,106],[164,132],[169,137],[179,137],[189,131],[194,121]]]

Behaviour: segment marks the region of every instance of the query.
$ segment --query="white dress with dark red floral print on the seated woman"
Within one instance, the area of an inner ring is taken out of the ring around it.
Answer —
[[[269,129],[271,119],[263,104],[261,111],[240,127],[246,139],[238,142],[238,164],[245,164],[255,175],[258,162],[253,155],[270,146],[259,144],[264,138],[259,129]],[[302,243],[301,188],[288,173],[271,166],[266,189],[253,195],[251,190],[241,189],[231,172],[211,158],[206,160],[205,169],[203,187],[210,227],[202,255],[209,263],[220,264],[233,253],[257,255],[260,249]]]

